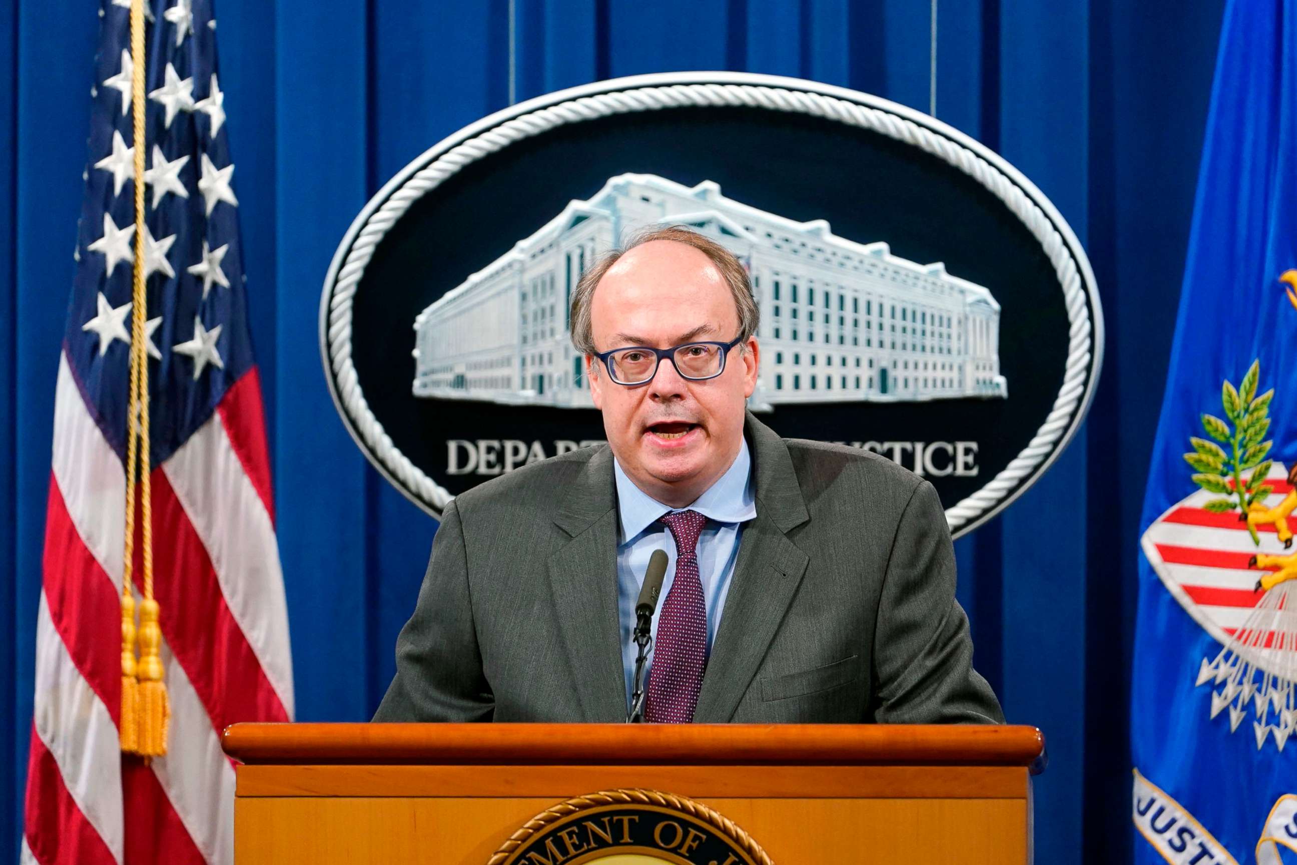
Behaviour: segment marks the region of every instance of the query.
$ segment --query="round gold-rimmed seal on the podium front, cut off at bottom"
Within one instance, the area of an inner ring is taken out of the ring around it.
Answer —
[[[604,790],[554,805],[486,865],[773,865],[733,821],[656,790]]]

